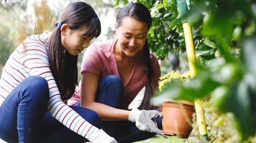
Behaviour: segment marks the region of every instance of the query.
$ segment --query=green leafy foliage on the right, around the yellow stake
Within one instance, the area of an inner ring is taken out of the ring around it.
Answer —
[[[114,1],[115,6],[128,2]],[[175,58],[168,60],[175,63],[174,59],[186,53],[182,23],[192,26],[197,75],[182,85],[169,85],[153,103],[159,106],[168,98],[202,99],[209,142],[255,143],[256,1],[183,0],[189,9],[185,14],[176,0],[134,1],[151,11],[148,41],[160,60],[172,53]],[[190,139],[202,142],[194,133]]]

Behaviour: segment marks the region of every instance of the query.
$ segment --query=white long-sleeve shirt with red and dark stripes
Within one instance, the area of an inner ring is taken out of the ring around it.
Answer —
[[[65,105],[50,70],[47,31],[27,37],[10,55],[0,78],[0,106],[12,90],[31,75],[44,77],[49,85],[48,109],[52,116],[70,130],[89,139],[99,129]]]

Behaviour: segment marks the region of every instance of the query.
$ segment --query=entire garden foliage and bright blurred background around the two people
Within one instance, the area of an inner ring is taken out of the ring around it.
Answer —
[[[50,31],[61,10],[72,1],[77,0],[2,0],[0,69],[25,37]],[[116,13],[129,1],[82,1],[91,4],[101,19],[101,36],[92,42],[114,37]],[[189,70],[182,23],[192,26],[197,75],[184,85],[169,86],[155,100],[200,98],[210,143],[256,143],[256,2],[186,0],[189,12],[181,16],[175,0],[133,1],[143,3],[151,12],[148,42],[161,62],[162,75]],[[172,142],[201,143],[197,128],[195,124],[188,139]],[[143,142],[170,140],[156,136]]]

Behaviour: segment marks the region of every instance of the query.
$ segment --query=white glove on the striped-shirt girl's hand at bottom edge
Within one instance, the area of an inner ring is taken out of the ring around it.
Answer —
[[[110,137],[105,131],[100,129],[93,135],[91,135],[88,140],[92,143],[118,143],[114,137]]]

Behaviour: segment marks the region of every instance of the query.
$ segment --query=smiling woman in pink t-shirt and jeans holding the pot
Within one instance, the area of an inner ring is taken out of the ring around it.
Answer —
[[[142,4],[122,7],[116,18],[116,38],[88,47],[81,67],[81,87],[68,101],[75,104],[81,93],[80,105],[97,112],[103,120],[102,129],[119,143],[144,140],[155,133],[166,137],[161,131],[162,113],[149,110],[153,109],[150,98],[161,75],[148,48],[151,22],[150,12]],[[141,104],[128,106],[135,97],[143,98]]]

